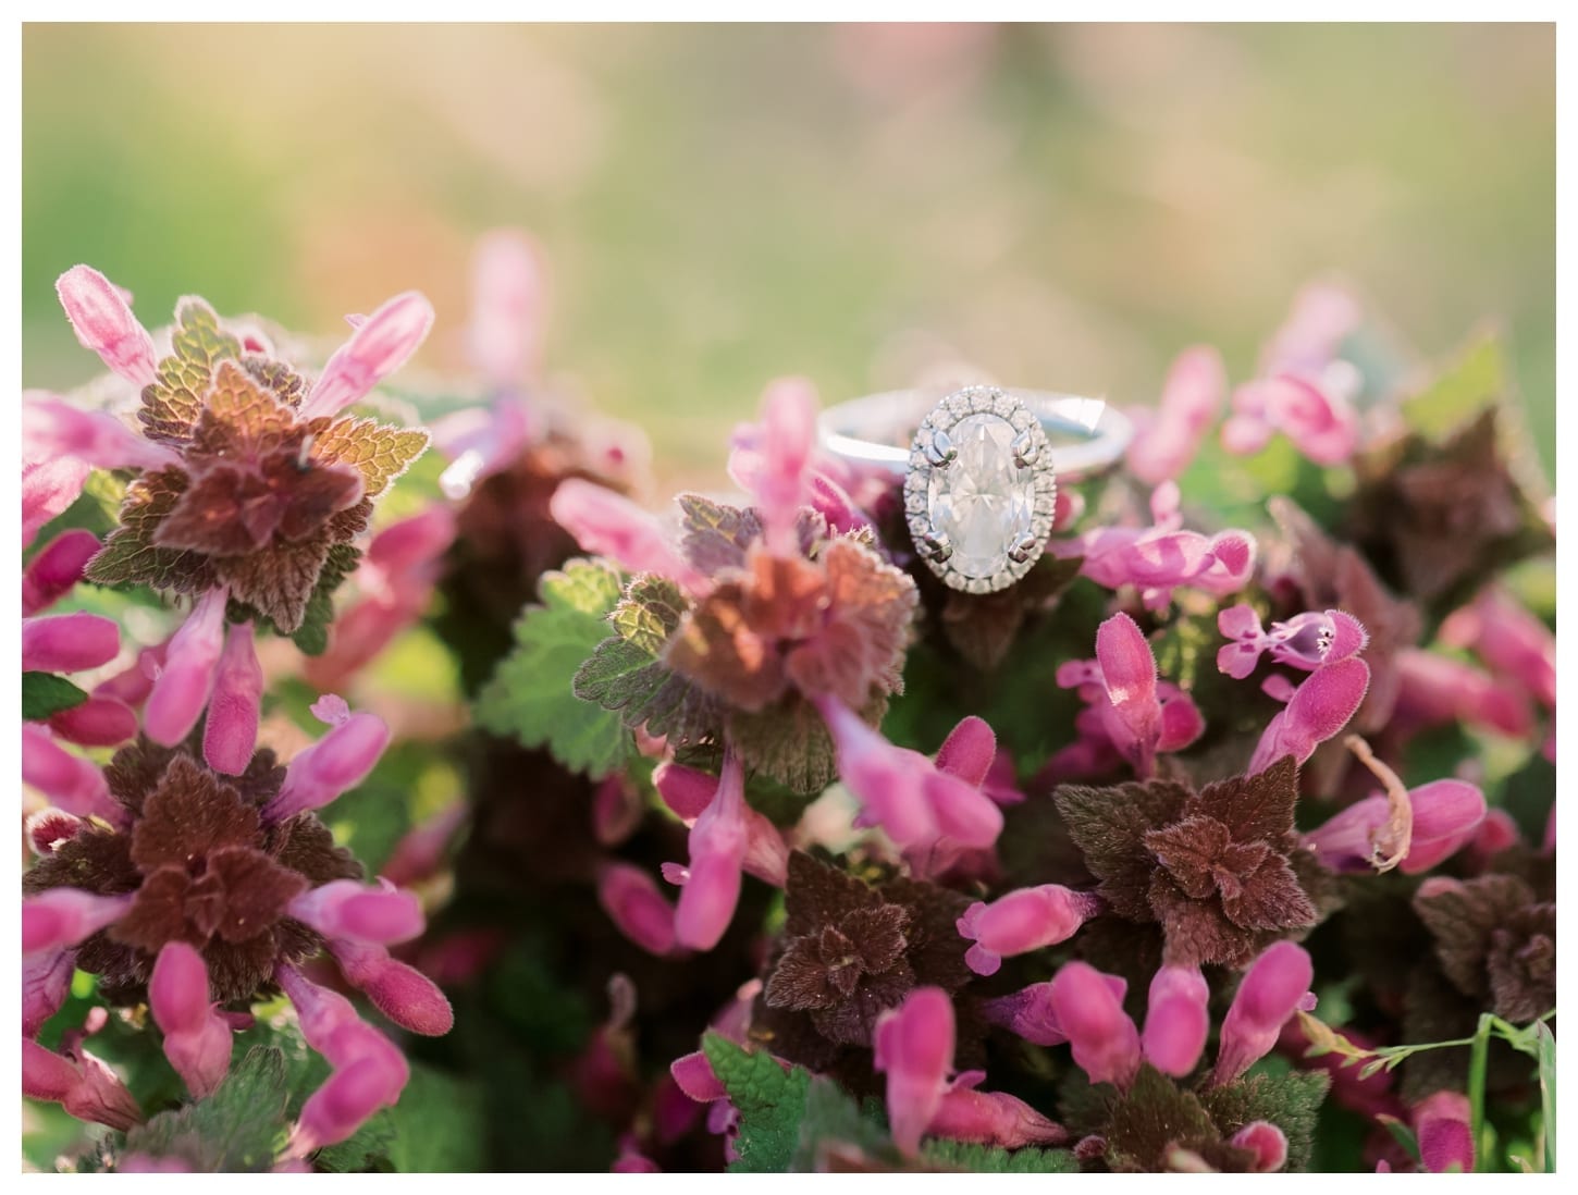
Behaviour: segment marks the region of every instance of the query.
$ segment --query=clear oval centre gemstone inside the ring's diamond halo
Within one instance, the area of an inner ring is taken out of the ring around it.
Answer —
[[[967,415],[948,428],[958,456],[931,470],[926,513],[953,546],[948,567],[964,576],[999,571],[1008,549],[1030,534],[1035,474],[1013,461],[1016,434],[1000,415]]]

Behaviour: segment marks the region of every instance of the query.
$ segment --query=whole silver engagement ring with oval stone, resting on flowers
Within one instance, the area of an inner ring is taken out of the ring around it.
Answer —
[[[966,594],[1030,571],[1053,530],[1057,475],[1108,469],[1133,434],[1128,417],[1098,398],[994,385],[942,401],[923,390],[868,395],[824,410],[817,426],[835,456],[904,477],[915,551]]]

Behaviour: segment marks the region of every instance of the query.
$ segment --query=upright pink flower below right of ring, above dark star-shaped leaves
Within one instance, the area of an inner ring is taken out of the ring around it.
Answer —
[[[1109,744],[1139,777],[1155,770],[1157,751],[1180,751],[1206,728],[1193,698],[1157,679],[1150,644],[1122,612],[1097,628],[1095,660],[1062,665],[1057,685],[1092,704],[1094,717],[1076,723],[1081,737]]]

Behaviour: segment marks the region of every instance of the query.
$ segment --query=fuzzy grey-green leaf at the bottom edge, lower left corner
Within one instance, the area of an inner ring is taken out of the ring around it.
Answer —
[[[131,1129],[125,1152],[181,1157],[205,1171],[262,1173],[273,1167],[287,1124],[284,1056],[254,1047],[213,1096]]]

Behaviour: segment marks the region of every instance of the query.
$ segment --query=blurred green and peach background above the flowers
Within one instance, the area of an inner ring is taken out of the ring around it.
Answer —
[[[713,474],[773,376],[967,360],[1149,401],[1236,380],[1338,272],[1422,355],[1509,336],[1554,463],[1550,25],[28,25],[24,377],[95,368],[52,283],[335,335],[406,287],[459,368],[488,227],[543,245],[546,361]],[[715,474],[713,474],[715,475]]]

